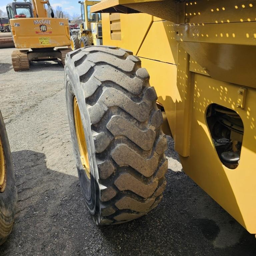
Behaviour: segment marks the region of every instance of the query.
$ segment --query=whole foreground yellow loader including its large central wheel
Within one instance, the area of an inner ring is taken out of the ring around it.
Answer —
[[[105,0],[91,12],[102,12],[103,44],[114,46],[67,54],[65,86],[96,223],[159,203],[164,131],[185,173],[255,234],[255,1]]]

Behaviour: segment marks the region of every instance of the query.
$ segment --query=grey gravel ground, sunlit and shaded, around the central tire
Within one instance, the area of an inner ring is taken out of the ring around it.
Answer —
[[[0,49],[0,109],[8,133],[18,205],[0,255],[256,255],[249,234],[186,174],[171,138],[162,202],[130,223],[96,226],[83,202],[56,62],[14,72]]]

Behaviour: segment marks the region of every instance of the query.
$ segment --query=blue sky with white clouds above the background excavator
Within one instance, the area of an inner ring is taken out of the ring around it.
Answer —
[[[6,12],[6,4],[10,2],[12,2],[12,0],[1,0],[0,9]],[[79,15],[81,14],[81,10],[80,10],[81,5],[78,3],[78,0],[50,0],[50,4],[53,8],[55,8],[58,5],[61,6],[62,10],[69,13],[71,16],[74,13]]]

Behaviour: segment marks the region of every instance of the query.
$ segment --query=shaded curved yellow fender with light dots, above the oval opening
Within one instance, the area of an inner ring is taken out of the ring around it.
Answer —
[[[214,79],[256,88],[255,22],[174,25],[176,39]],[[178,33],[178,34],[177,34]]]

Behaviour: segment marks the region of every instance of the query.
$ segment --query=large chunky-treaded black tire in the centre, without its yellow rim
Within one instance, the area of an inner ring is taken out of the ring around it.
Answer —
[[[116,47],[67,54],[66,103],[82,194],[97,224],[136,219],[162,199],[166,137],[156,93],[138,57]],[[88,149],[88,179],[80,160],[73,100]]]

